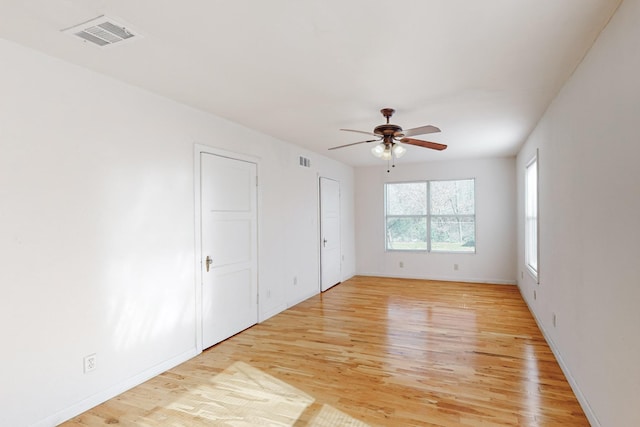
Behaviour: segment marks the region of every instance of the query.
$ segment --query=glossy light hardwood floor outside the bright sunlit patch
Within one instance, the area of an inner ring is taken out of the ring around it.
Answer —
[[[313,398],[285,425],[312,425],[323,407],[370,426],[589,425],[517,287],[375,277],[354,277],[64,425],[217,425],[210,412],[171,408],[238,361]]]

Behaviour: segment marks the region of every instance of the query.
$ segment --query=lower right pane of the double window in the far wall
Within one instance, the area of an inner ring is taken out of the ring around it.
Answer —
[[[431,250],[434,252],[475,252],[476,224],[473,217],[432,217]]]

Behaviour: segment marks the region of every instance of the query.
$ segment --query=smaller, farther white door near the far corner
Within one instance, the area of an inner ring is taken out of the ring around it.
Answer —
[[[340,283],[340,183],[320,178],[320,282],[321,290]]]

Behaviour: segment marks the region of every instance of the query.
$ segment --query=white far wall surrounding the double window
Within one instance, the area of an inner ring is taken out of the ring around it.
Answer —
[[[411,153],[407,153],[410,156]],[[404,159],[404,158],[403,158]],[[384,183],[476,179],[476,253],[385,252]],[[356,271],[362,275],[515,283],[515,159],[402,163],[356,169]],[[400,261],[404,267],[400,268]],[[459,269],[453,268],[458,264]]]

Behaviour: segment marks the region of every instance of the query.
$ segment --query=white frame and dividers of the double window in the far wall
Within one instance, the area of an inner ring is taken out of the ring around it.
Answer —
[[[444,214],[432,214],[431,213],[431,184],[434,182],[446,182],[446,181],[473,181],[473,214],[462,214],[462,215],[444,215]],[[397,184],[425,184],[426,187],[426,213],[424,215],[388,215],[387,214],[387,186],[388,185],[397,185]],[[403,181],[403,182],[387,182],[384,184],[384,249],[385,252],[423,252],[423,253],[440,253],[440,254],[475,254],[478,250],[477,248],[477,219],[476,219],[476,179],[475,178],[460,178],[460,179],[433,179],[433,180],[417,180],[417,181]],[[432,218],[445,218],[445,217],[468,217],[473,219],[474,229],[473,229],[473,238],[474,238],[474,247],[473,251],[442,251],[442,250],[433,250],[431,243],[431,219]],[[405,218],[425,218],[426,224],[426,232],[427,232],[427,247],[426,249],[393,249],[388,247],[387,240],[387,218],[388,217],[405,217]]]

